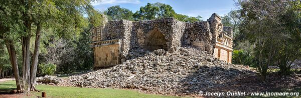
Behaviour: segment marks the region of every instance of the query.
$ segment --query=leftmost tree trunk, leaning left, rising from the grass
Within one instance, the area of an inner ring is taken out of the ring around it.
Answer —
[[[14,70],[14,74],[15,74],[15,79],[16,79],[16,85],[17,85],[17,90],[21,90],[23,91],[22,87],[21,87],[21,82],[20,82],[20,76],[19,76],[19,69],[18,69],[18,62],[17,62],[17,55],[16,55],[16,49],[15,49],[15,45],[14,43],[9,40],[6,42],[7,44],[7,48],[10,54],[10,60],[11,60],[11,64]]]

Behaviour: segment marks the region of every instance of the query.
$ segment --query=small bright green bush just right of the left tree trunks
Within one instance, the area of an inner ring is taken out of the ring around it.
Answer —
[[[41,75],[54,75],[56,72],[56,64],[53,63],[41,63],[39,64],[39,71],[41,73]]]

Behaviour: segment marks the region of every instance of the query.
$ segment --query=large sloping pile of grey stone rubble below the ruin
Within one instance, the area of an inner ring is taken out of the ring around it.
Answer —
[[[256,73],[242,65],[219,60],[206,51],[190,47],[178,49],[173,53],[158,49],[144,55],[137,51],[129,52],[132,59],[109,69],[72,75],[69,82],[86,87],[131,88],[159,94],[193,94],[227,86],[234,78]]]

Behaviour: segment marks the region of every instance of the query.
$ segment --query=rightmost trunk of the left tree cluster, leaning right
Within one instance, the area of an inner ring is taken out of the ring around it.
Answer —
[[[40,49],[40,39],[41,39],[41,24],[37,24],[37,31],[36,31],[36,41],[35,41],[35,50],[33,61],[31,64],[31,73],[30,73],[30,90],[39,91],[36,88],[36,74],[37,74],[37,67],[38,67],[38,59],[39,59],[39,49]]]

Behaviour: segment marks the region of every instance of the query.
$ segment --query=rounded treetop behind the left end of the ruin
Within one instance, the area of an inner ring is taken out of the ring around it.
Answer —
[[[104,14],[108,16],[108,20],[133,20],[133,12],[127,8],[120,8],[119,5],[108,7]]]

